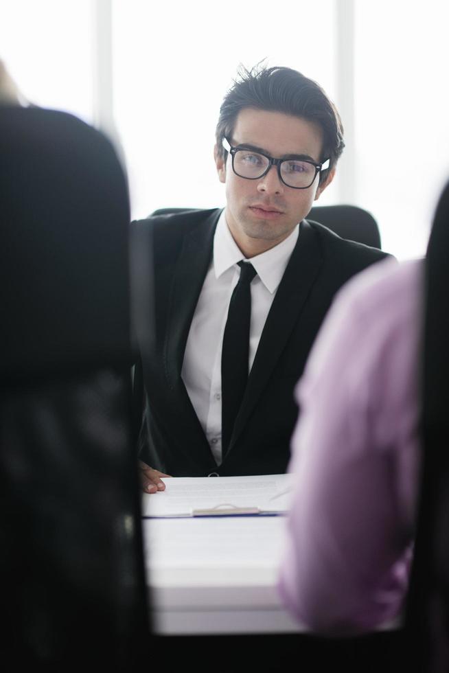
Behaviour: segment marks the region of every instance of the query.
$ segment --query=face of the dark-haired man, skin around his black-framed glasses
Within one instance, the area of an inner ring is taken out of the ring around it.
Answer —
[[[276,159],[302,155],[319,163],[323,135],[318,124],[301,117],[245,108],[235,121],[229,142],[234,147],[259,148]],[[332,171],[326,183],[319,186],[317,175],[308,189],[295,190],[281,182],[277,166],[271,166],[260,179],[248,180],[235,175],[230,155],[225,163],[217,151],[216,166],[220,181],[226,183],[226,220],[246,257],[258,255],[287,238],[334,176]]]

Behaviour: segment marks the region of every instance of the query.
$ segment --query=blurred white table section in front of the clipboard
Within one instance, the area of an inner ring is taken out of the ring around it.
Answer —
[[[283,516],[143,519],[154,631],[297,632],[276,590]]]

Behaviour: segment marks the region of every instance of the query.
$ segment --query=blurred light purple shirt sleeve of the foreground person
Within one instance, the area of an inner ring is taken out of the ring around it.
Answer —
[[[297,387],[279,591],[312,630],[400,613],[417,490],[422,263],[380,262],[341,290]]]

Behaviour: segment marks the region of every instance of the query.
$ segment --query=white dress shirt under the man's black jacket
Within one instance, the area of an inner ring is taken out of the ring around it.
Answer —
[[[251,260],[257,275],[251,283],[249,370],[266,317],[298,240],[299,225],[286,239]],[[214,235],[214,255],[190,326],[181,376],[217,465],[221,445],[221,352],[229,301],[245,260],[227,226],[225,211]]]

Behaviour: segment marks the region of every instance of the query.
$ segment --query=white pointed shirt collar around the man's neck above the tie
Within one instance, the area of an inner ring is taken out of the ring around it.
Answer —
[[[226,211],[223,210],[218,219],[214,234],[214,272],[219,278],[234,264],[246,260],[242,251],[232,238],[231,231],[226,222]],[[293,229],[287,238],[275,245],[275,247],[246,260],[253,264],[257,275],[270,293],[274,293],[281,282],[284,271],[295,248],[299,236],[299,225]]]

